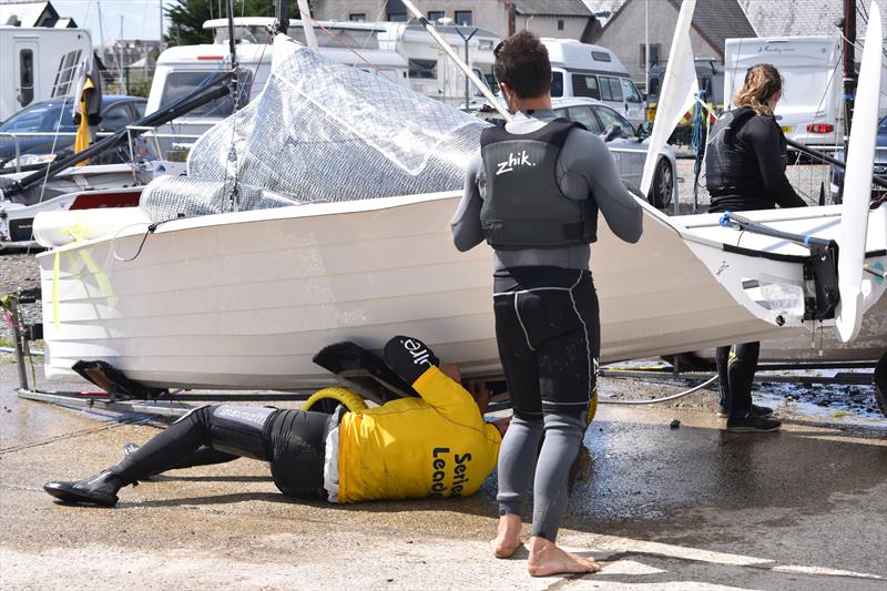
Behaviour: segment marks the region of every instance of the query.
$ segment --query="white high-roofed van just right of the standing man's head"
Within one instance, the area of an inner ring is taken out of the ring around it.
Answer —
[[[615,53],[575,39],[542,38],[551,62],[551,96],[587,96],[615,109],[638,126],[644,104],[638,86]]]

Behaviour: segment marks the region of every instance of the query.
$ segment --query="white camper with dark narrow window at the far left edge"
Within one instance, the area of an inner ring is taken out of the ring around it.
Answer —
[[[0,26],[0,123],[30,104],[71,94],[74,72],[91,52],[84,29]]]

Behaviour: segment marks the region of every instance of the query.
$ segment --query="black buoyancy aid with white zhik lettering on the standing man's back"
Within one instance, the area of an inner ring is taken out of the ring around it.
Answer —
[[[573,128],[582,126],[557,119],[527,134],[509,133],[504,124],[481,133],[480,222],[493,248],[559,248],[597,240],[594,200],[571,200],[558,185],[558,155]]]

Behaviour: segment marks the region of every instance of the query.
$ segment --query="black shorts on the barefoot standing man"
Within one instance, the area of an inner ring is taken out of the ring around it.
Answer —
[[[498,272],[495,285],[496,337],[514,414],[584,416],[601,348],[591,273],[516,267]]]

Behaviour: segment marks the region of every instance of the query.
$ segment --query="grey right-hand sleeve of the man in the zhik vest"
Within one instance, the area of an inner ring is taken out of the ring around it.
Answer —
[[[625,242],[641,240],[643,208],[622,184],[603,140],[571,131],[558,159],[558,181],[570,198],[588,198],[591,193],[613,234]]]

